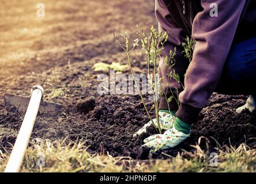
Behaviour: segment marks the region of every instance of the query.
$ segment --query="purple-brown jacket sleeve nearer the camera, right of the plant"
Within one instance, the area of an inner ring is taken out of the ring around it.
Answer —
[[[203,11],[194,18],[192,36],[197,41],[185,75],[185,90],[176,116],[185,122],[197,121],[199,111],[216,89],[235,36],[246,0],[201,0]],[[211,3],[217,3],[219,16],[211,17]]]

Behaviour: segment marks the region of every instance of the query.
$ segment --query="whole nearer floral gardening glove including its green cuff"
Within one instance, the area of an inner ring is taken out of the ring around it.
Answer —
[[[191,125],[175,118],[174,126],[165,131],[164,134],[157,134],[144,139],[142,147],[150,148],[150,152],[167,150],[182,143],[190,135]]]

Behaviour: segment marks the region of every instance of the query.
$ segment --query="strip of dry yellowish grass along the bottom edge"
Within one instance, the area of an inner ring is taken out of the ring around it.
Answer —
[[[28,148],[21,172],[255,172],[256,151],[245,144],[216,150],[217,167],[210,164],[207,152],[194,145],[195,152],[182,152],[165,160],[133,160],[130,157],[91,155],[82,141],[64,144],[44,140]],[[9,159],[0,150],[0,172]],[[41,166],[40,166],[41,164]]]

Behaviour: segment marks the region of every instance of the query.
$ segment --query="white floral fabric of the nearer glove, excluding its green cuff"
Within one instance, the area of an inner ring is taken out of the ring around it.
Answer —
[[[168,131],[165,131],[164,134],[157,134],[144,139],[145,144],[142,145],[142,147],[150,148],[151,152],[167,150],[182,143],[182,141],[187,139],[189,135],[190,133],[185,134],[183,132],[180,132],[178,131],[178,129],[175,128],[175,126],[173,126]]]

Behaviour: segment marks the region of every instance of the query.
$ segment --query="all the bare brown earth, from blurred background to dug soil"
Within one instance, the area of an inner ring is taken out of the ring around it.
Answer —
[[[138,95],[100,95],[93,64],[120,62],[126,57],[116,45],[116,33],[129,31],[138,24],[156,26],[153,1],[44,1],[46,17],[36,17],[36,1],[5,1],[0,11],[0,149],[10,148],[22,122],[22,114],[7,111],[6,92],[29,95],[33,85],[46,90],[44,99],[64,106],[59,116],[39,114],[33,138],[83,139],[93,153],[148,159],[141,150],[142,140],[154,133],[133,138],[135,131],[148,122]],[[135,72],[146,72],[141,51],[133,53]],[[128,75],[129,71],[124,71]],[[106,72],[108,74],[108,72]],[[246,101],[244,95],[214,93],[193,125],[191,136],[168,155],[193,151],[190,144],[198,138],[209,139],[209,148],[237,146],[246,142],[256,147],[256,113],[235,109]],[[148,102],[148,108],[153,103]],[[151,110],[153,114],[153,109]],[[202,147],[204,147],[202,143]],[[164,158],[163,154],[155,155]]]

